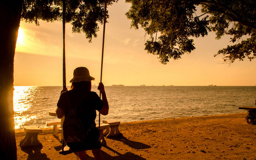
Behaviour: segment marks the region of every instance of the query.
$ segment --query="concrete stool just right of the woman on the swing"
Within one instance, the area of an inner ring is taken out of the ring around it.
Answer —
[[[106,135],[107,138],[122,136],[122,133],[120,133],[118,129],[118,126],[120,125],[120,121],[118,121],[117,119],[107,119],[107,120],[103,120],[102,122],[110,125],[110,131],[105,132],[105,134],[107,134]]]

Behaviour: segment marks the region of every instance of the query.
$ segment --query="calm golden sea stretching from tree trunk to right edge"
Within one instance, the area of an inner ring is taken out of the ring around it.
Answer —
[[[57,119],[55,110],[61,86],[15,86],[15,129],[24,125],[45,126]],[[255,106],[256,86],[106,86],[110,111],[104,118],[121,122],[242,113]],[[96,86],[92,91],[99,94]],[[97,118],[96,118],[97,119]]]

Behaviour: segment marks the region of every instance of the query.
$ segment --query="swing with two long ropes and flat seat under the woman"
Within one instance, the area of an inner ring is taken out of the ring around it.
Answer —
[[[105,0],[105,8],[104,8],[104,23],[103,23],[103,43],[102,43],[102,62],[100,68],[100,83],[102,82],[102,70],[103,70],[103,55],[104,55],[104,43],[105,43],[105,26],[106,26],[106,10],[107,10],[107,0]],[[66,23],[66,2],[63,0],[63,89],[66,88],[66,61],[65,61],[65,23]],[[101,93],[99,93],[99,98],[101,98]],[[100,131],[100,113],[99,113],[99,126],[98,129]],[[99,149],[101,145],[98,147],[90,147],[90,148],[81,148],[81,149],[71,149],[68,146],[65,147],[65,141],[63,139],[62,149],[59,151],[59,154],[67,155],[77,151],[91,150],[91,149]]]

